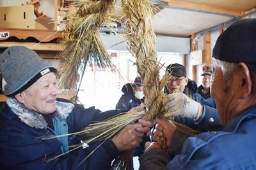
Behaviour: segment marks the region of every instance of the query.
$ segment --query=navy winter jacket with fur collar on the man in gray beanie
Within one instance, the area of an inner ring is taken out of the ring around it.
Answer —
[[[84,109],[83,105],[61,101],[56,101],[53,131],[47,127],[42,114],[26,109],[15,98],[7,99],[0,114],[1,169],[110,169],[111,161],[120,154],[110,139],[101,146],[100,142],[90,144],[72,155],[65,152],[68,146],[80,143],[76,136],[42,137],[77,132],[94,121],[102,121],[124,111],[101,112],[94,107]],[[90,153],[92,155],[86,158]]]

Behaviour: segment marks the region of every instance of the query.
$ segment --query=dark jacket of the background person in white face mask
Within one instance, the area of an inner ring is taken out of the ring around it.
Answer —
[[[132,107],[136,107],[144,102],[144,97],[142,99],[138,99],[134,96],[130,83],[123,86],[122,92],[124,95],[122,95],[122,97],[118,100],[116,109],[125,109],[129,111],[132,109]]]

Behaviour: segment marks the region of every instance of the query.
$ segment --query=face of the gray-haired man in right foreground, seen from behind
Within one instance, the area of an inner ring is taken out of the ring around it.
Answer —
[[[232,79],[225,80],[221,69],[212,70],[212,84],[211,95],[216,102],[216,109],[220,115],[221,125],[225,125],[234,115],[234,108],[237,105],[236,91],[238,90],[236,80],[233,76]]]

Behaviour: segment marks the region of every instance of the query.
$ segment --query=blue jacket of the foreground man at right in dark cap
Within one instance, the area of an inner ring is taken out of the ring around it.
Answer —
[[[144,169],[255,169],[256,106],[241,112],[217,131],[197,137],[175,130],[168,153],[151,148],[140,157]],[[184,142],[185,141],[185,142]],[[157,155],[157,157],[156,157]]]

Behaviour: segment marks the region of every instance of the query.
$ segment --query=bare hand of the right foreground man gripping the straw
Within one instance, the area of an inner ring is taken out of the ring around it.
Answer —
[[[164,134],[166,139],[166,146],[170,145],[170,142],[172,141],[172,136],[174,131],[176,130],[176,126],[170,122],[163,120],[161,118],[156,118],[156,129],[154,130],[154,140],[158,141],[160,137]]]

